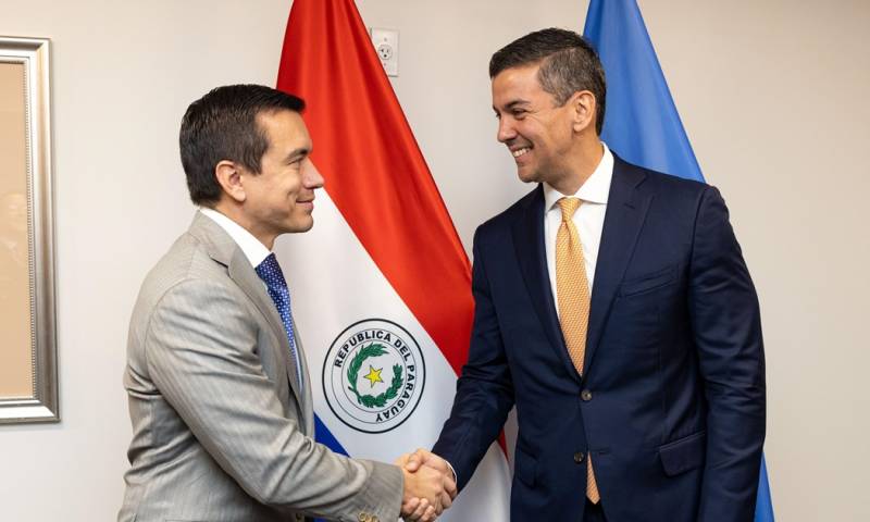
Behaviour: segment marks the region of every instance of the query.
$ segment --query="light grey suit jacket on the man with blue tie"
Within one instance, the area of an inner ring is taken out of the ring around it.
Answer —
[[[298,337],[297,337],[298,338]],[[197,212],[148,274],[124,386],[130,470],[122,522],[399,517],[398,468],[313,440],[281,318],[241,249]]]

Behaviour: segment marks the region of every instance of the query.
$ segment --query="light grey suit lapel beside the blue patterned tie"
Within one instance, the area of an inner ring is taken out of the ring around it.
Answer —
[[[269,322],[269,326],[278,339],[278,356],[285,368],[287,381],[290,388],[296,394],[297,400],[301,405],[303,402],[302,395],[300,394],[299,386],[296,384],[296,369],[290,361],[290,343],[287,339],[287,333],[284,330],[284,323],[281,322],[281,315],[272,302],[272,298],[263,286],[263,282],[257,275],[257,272],[251,268],[250,261],[245,257],[245,252],[236,245],[236,241],[229,237],[220,225],[214,223],[211,219],[197,212],[194,217],[194,223],[190,225],[189,233],[197,237],[206,246],[209,256],[216,262],[227,268],[229,278],[248,296],[251,302],[254,303],[260,313]],[[301,353],[301,352],[300,352]]]

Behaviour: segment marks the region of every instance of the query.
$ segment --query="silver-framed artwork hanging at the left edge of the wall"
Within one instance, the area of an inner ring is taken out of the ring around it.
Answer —
[[[0,423],[57,422],[49,40],[0,37]]]

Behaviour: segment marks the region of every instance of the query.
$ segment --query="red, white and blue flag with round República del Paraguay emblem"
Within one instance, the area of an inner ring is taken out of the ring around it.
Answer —
[[[294,1],[277,88],[306,100],[325,179],[314,228],[275,247],[318,440],[391,462],[432,447],[449,414],[471,334],[470,264],[352,0]],[[443,519],[508,520],[509,474],[494,445]]]

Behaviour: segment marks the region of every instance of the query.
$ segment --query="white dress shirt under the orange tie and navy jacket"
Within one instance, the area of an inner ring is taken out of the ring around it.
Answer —
[[[576,194],[561,194],[544,183],[544,241],[547,250],[547,272],[550,276],[550,288],[555,302],[559,302],[556,291],[556,235],[562,224],[562,210],[558,201],[564,197],[580,198],[580,208],[574,212],[573,222],[583,246],[583,260],[586,264],[586,278],[592,293],[595,279],[595,265],[598,262],[598,247],[601,245],[601,229],[605,226],[607,198],[610,194],[610,181],[613,178],[613,154],[607,145],[598,166],[580,187]],[[556,307],[559,313],[559,307]]]

